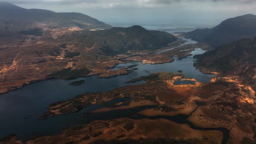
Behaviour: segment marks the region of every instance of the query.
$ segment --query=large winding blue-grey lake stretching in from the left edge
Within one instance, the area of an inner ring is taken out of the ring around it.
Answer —
[[[194,41],[193,43],[196,42]],[[197,55],[204,53],[204,51],[195,49],[195,51],[191,53]],[[106,92],[125,85],[143,84],[145,83],[144,81],[128,84],[125,84],[125,82],[140,76],[150,75],[154,72],[167,71],[177,73],[178,70],[182,70],[186,78],[195,78],[199,82],[209,82],[213,75],[203,74],[195,69],[193,66],[193,61],[195,60],[193,56],[188,56],[182,60],[175,58],[174,62],[157,65],[142,65],[141,62],[123,63],[113,69],[121,69],[125,66],[135,64],[138,64],[138,66],[135,67],[138,69],[128,75],[118,75],[111,78],[89,76],[72,80],[50,79],[36,82],[16,91],[0,95],[0,138],[10,133],[15,133],[21,139],[28,139],[33,136],[33,132],[35,132],[35,134],[55,134],[60,132],[62,128],[68,128],[70,125],[84,124],[84,118],[77,118],[80,116],[80,113],[56,116],[43,121],[37,118],[42,115],[46,111],[46,108],[53,102],[67,100],[87,92]],[[85,80],[85,83],[81,85],[68,85],[77,80]],[[181,84],[187,83],[183,81]],[[87,108],[82,111],[86,110]],[[101,118],[104,120],[107,119],[108,116]],[[98,119],[97,117],[93,117],[92,120]]]

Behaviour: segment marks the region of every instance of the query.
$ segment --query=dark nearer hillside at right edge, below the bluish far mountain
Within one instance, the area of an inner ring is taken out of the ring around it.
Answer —
[[[256,86],[256,37],[227,43],[195,58],[198,59],[195,66],[205,72],[235,75],[244,83]]]

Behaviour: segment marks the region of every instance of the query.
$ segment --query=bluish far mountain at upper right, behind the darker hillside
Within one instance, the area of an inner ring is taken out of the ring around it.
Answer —
[[[184,36],[216,48],[225,43],[256,36],[256,16],[253,14],[237,16],[224,20],[212,29],[196,29],[185,33]]]

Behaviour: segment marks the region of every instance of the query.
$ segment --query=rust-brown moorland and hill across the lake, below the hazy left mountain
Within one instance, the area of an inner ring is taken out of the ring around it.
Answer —
[[[131,37],[130,33],[138,29],[144,31],[144,34],[138,33]],[[167,40],[159,42],[160,47],[158,42],[151,40],[152,47],[148,47],[148,49],[152,50],[148,50],[148,52],[161,49],[162,46],[176,39],[171,34],[151,32],[138,26],[100,31],[84,31],[77,27],[45,28],[43,36],[25,36],[16,33],[10,36],[5,35],[0,37],[0,40],[3,41],[0,45],[0,93],[49,78],[70,79],[103,73],[111,74],[104,74],[105,76],[101,75],[100,77],[126,74],[127,71],[112,72],[108,69],[123,63],[121,58],[131,56],[133,52],[142,51],[137,49],[140,47],[137,45],[145,43],[147,39],[143,40],[140,37],[151,33],[164,36]],[[121,42],[121,39],[126,39],[125,34],[130,39],[127,40],[128,42]],[[103,39],[101,35],[105,35]],[[115,43],[117,39],[120,40],[120,46]],[[154,43],[158,47],[154,47]],[[131,49],[131,52],[126,53],[125,46],[136,49]],[[114,49],[117,53],[113,52],[114,55],[108,55],[109,49]]]

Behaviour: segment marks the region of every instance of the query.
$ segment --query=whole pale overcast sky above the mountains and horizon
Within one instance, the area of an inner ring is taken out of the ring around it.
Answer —
[[[79,12],[106,23],[216,25],[256,14],[256,0],[0,0],[24,8]]]

